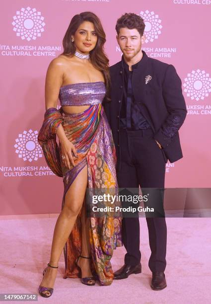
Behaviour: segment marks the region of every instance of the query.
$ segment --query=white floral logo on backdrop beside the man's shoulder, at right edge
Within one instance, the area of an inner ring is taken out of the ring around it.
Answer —
[[[191,100],[204,99],[209,96],[211,92],[211,78],[205,71],[197,70],[188,73],[185,78],[184,91],[187,97],[191,97]]]

